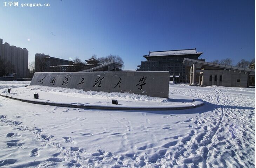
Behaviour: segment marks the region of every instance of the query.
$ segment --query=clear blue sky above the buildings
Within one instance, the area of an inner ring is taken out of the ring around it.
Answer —
[[[35,53],[82,60],[117,54],[125,69],[136,69],[149,51],[195,47],[206,61],[255,57],[254,0],[16,0],[19,7],[4,7],[6,1],[0,38],[27,48],[29,61]]]

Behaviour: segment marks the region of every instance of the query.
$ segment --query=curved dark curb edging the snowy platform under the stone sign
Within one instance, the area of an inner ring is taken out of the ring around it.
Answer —
[[[195,106],[191,105],[191,106],[187,106],[187,107],[118,107],[118,106],[113,107],[113,106],[74,105],[74,104],[38,102],[38,101],[33,101],[33,100],[14,98],[14,97],[5,96],[2,94],[0,94],[0,96],[9,98],[9,99],[13,99],[13,100],[18,100],[21,102],[40,104],[40,105],[72,107],[72,108],[79,108],[79,109],[99,109],[99,110],[184,110],[184,109],[193,109],[195,107],[200,107],[200,106],[204,105],[204,103],[202,102],[202,104],[198,104]]]

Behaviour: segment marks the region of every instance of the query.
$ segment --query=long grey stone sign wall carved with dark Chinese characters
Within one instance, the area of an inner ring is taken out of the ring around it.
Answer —
[[[169,71],[36,72],[30,85],[58,86],[84,91],[129,92],[168,98]]]

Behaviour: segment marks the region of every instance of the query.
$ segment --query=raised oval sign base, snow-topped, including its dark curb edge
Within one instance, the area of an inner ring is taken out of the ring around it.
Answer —
[[[199,107],[204,104],[202,100],[195,97],[170,94],[169,99],[153,98],[152,101],[125,99],[124,97],[119,99],[114,97],[118,100],[118,104],[115,105],[112,104],[113,97],[46,92],[34,90],[34,88],[32,88],[32,91],[29,87],[12,88],[12,93],[8,93],[6,89],[2,89],[0,90],[0,96],[34,104],[104,110],[182,110]],[[39,99],[34,99],[34,93],[39,94]]]

